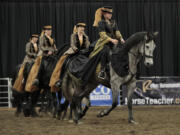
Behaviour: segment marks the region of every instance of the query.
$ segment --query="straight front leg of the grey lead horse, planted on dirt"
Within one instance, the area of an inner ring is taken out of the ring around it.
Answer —
[[[133,123],[133,124],[137,124],[133,119],[133,113],[132,113],[132,96],[133,96],[135,87],[136,87],[136,80],[133,79],[127,85],[127,89],[128,89],[127,100],[128,100],[128,114],[129,114],[128,122]]]

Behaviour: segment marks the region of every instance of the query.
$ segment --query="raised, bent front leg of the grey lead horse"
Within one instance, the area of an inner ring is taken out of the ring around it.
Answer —
[[[118,105],[118,95],[119,95],[119,89],[120,89],[121,84],[119,81],[113,81],[111,83],[111,88],[112,88],[112,98],[113,98],[113,103],[112,106],[109,109],[102,110],[97,117],[104,117],[106,115],[109,115],[109,113],[116,108]]]

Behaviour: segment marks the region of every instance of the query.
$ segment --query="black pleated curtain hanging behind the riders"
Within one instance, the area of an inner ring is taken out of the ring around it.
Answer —
[[[104,1],[1,1],[0,3],[0,78],[11,77],[23,61],[25,44],[32,33],[44,25],[53,26],[57,47],[70,42],[77,18],[87,23],[90,41],[98,38],[92,27],[97,8],[113,6],[113,18],[125,39],[138,31],[159,31],[154,53],[155,65],[140,66],[141,75],[180,75],[180,2],[178,0],[104,0]]]

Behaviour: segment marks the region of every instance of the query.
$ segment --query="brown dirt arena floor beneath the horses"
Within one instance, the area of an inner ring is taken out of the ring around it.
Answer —
[[[14,109],[0,109],[0,135],[180,135],[180,106],[136,106],[137,125],[128,124],[127,107],[97,118],[104,108],[91,107],[80,125],[50,116],[15,117]]]

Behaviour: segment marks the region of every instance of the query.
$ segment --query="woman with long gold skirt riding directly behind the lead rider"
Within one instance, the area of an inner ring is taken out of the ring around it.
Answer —
[[[56,67],[52,73],[50,84],[51,91],[55,91],[56,88],[61,86],[61,70],[64,61],[69,55],[77,53],[78,51],[88,48],[90,45],[89,38],[86,35],[85,23],[77,23],[74,26],[73,34],[71,35],[71,44],[70,48],[59,58],[59,61],[56,64]]]

